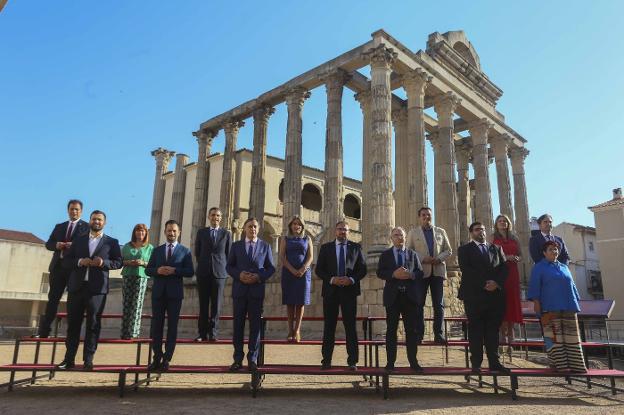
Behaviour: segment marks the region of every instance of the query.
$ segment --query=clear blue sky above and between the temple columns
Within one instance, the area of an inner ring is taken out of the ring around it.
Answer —
[[[202,121],[379,28],[414,51],[429,33],[464,30],[504,91],[499,111],[528,140],[531,215],[593,225],[587,206],[624,185],[622,15],[616,0],[9,0],[0,13],[0,228],[46,239],[77,197],[87,212],[106,211],[108,232],[127,241],[135,223],[149,223],[151,150],[194,161],[191,132]],[[304,108],[304,162],[320,168],[325,102],[318,88]],[[348,90],[343,107],[345,174],[360,178],[361,113]],[[283,156],[285,127],[281,105],[269,154]],[[252,130],[248,121],[239,147],[251,148]],[[223,133],[213,146],[222,149]]]

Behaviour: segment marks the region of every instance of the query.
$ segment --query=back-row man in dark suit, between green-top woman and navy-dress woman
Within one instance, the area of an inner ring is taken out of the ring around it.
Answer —
[[[197,293],[199,296],[199,336],[195,341],[217,340],[219,316],[223,305],[223,288],[227,278],[225,266],[232,234],[220,228],[221,210],[213,207],[208,211],[210,226],[197,231],[195,258],[197,259]]]

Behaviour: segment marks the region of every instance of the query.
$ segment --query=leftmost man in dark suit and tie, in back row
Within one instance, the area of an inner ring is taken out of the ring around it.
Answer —
[[[33,337],[46,338],[50,335],[52,322],[56,317],[58,305],[63,297],[67,280],[71,270],[63,268],[62,260],[65,252],[71,247],[72,241],[78,236],[89,232],[89,224],[82,219],[82,202],[72,199],[67,203],[67,222],[59,223],[54,227],[46,242],[48,251],[54,251],[52,261],[50,261],[50,289],[48,291],[48,304],[46,304],[45,314],[41,317],[39,331]]]

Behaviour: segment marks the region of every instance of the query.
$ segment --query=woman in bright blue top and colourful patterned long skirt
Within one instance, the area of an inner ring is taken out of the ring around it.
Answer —
[[[540,315],[544,345],[550,367],[561,371],[586,372],[576,314],[581,311],[574,279],[565,264],[557,261],[559,245],[544,244],[544,259],[535,264],[528,299]]]

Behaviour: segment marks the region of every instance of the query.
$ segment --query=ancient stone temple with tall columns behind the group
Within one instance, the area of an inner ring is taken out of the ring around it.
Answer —
[[[245,218],[260,218],[263,237],[273,246],[292,215],[309,222],[316,243],[332,239],[333,225],[347,216],[356,231],[353,239],[362,241],[371,271],[363,281],[358,313],[383,316],[383,282],[373,274],[379,253],[390,244],[392,227],[409,229],[417,224],[418,209],[433,204],[434,220],[446,229],[454,247],[468,241],[467,225],[473,220],[492,229],[495,202],[489,165],[495,162],[498,211],[512,218],[522,246],[528,246],[526,140],[496,109],[503,92],[482,71],[464,32],[432,33],[426,49],[416,52],[383,30],[371,36],[362,45],[202,122],[193,133],[198,143],[196,163],[188,164],[185,155],[178,155],[175,173],[167,172],[173,152],[155,150],[153,236],[162,233],[164,221],[176,218],[182,222],[183,242],[192,243],[212,205],[223,210],[222,225],[235,237]],[[367,68],[370,76],[363,75]],[[314,89],[327,96],[324,171],[302,165],[303,109]],[[343,177],[341,102],[345,89],[354,93],[362,110],[361,183]],[[277,159],[266,154],[267,126],[274,107],[282,103],[288,110],[286,150],[279,161],[283,166],[268,177]],[[241,128],[253,128],[251,152],[237,149]],[[221,136],[225,150],[216,157],[210,149]],[[433,160],[426,160],[427,141]],[[433,163],[433,177],[427,177],[427,162]],[[428,181],[434,183],[433,195],[427,194]],[[310,186],[314,186],[314,196]],[[310,209],[312,205],[317,210]],[[455,299],[459,283],[459,278],[453,278],[458,276],[455,258],[450,262],[447,314],[461,314],[461,304]],[[267,315],[284,313],[277,274],[267,291],[271,293],[266,300]],[[315,281],[314,287],[315,305],[307,315],[322,314],[320,284]],[[187,298],[185,309],[197,307],[193,301]]]

